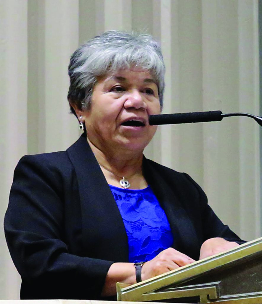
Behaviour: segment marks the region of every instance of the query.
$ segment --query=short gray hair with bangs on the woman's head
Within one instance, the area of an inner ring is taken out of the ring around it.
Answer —
[[[159,43],[150,35],[108,31],[87,41],[71,56],[67,98],[79,110],[89,109],[98,77],[132,66],[150,71],[163,107],[165,65]],[[71,111],[74,110],[71,106]]]

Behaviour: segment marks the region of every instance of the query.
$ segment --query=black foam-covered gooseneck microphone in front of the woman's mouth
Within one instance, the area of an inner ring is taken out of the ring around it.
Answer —
[[[262,117],[248,113],[229,113],[223,114],[221,111],[189,112],[174,114],[149,115],[149,125],[168,125],[178,123],[204,123],[210,121],[221,121],[229,116],[247,116],[256,120],[262,126]]]

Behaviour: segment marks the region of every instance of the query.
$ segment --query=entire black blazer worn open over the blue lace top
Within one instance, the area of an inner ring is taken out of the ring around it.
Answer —
[[[189,175],[146,158],[143,172],[166,212],[174,248],[197,260],[208,238],[242,243]],[[21,299],[101,299],[110,265],[128,262],[128,240],[84,134],[66,151],[22,157],[5,236],[22,277]]]

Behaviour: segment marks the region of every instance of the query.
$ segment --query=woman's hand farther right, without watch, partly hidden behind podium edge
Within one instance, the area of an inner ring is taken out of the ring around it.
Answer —
[[[210,257],[213,254],[218,254],[237,246],[239,246],[239,244],[236,242],[229,242],[222,237],[213,237],[204,241],[202,244],[199,259],[201,260],[205,257]]]

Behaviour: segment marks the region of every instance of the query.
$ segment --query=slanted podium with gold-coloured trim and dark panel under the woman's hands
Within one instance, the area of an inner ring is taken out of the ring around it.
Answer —
[[[134,285],[117,283],[117,300],[262,304],[262,237]]]

